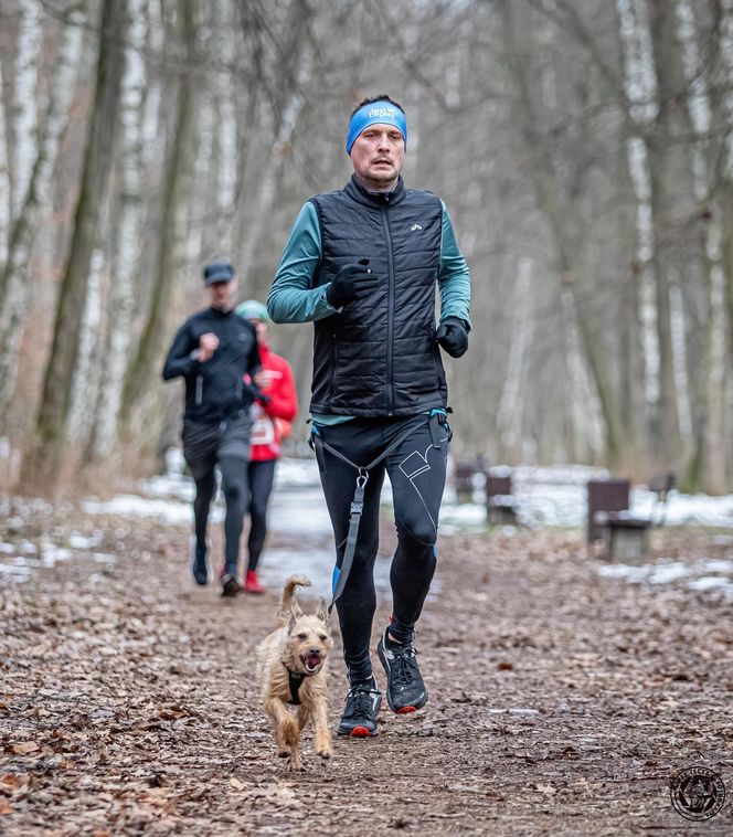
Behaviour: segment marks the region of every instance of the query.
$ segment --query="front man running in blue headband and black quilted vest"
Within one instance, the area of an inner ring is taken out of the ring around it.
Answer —
[[[311,439],[337,544],[334,598],[351,686],[341,735],[378,732],[382,696],[369,647],[385,470],[397,549],[392,618],[378,651],[390,708],[410,712],[427,701],[413,635],[435,572],[450,437],[438,346],[460,357],[470,329],[466,261],[443,201],[405,188],[406,142],[404,109],[394,99],[368,98],[353,110],[346,150],[354,173],[343,189],[302,206],[267,300],[275,322],[315,327]]]

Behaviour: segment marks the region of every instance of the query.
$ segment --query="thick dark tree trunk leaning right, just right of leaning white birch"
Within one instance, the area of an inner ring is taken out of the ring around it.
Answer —
[[[35,488],[54,486],[66,442],[89,263],[96,244],[100,206],[107,194],[117,135],[125,65],[123,43],[126,11],[125,0],[105,0],[102,9],[97,83],[74,233],[59,296],[53,345],[36,420],[38,444],[30,457],[29,477]]]

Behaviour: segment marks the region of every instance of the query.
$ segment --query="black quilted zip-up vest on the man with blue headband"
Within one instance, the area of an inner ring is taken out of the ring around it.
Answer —
[[[311,413],[413,415],[445,407],[447,386],[435,336],[440,263],[440,201],[405,189],[366,192],[355,176],[343,189],[311,199],[325,285],[349,262],[369,258],[380,286],[365,299],[314,322]]]

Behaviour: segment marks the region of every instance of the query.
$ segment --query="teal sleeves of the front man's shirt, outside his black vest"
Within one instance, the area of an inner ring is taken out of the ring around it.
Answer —
[[[458,250],[448,210],[443,201],[440,204],[440,319],[459,317],[470,328],[470,274]],[[318,214],[316,206],[308,201],[295,220],[267,298],[267,310],[275,322],[310,322],[336,314],[337,309],[326,299],[328,285],[312,287],[321,255]]]

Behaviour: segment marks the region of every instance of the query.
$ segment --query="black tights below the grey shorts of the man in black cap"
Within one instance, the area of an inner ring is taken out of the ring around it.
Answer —
[[[219,469],[222,473],[222,489],[226,501],[226,516],[224,518],[224,572],[235,575],[240,558],[240,539],[247,502],[247,469],[245,463],[238,457],[223,456],[219,460]],[[209,509],[214,496],[214,462],[211,468],[200,474],[195,479],[196,496],[193,501],[195,517],[195,534],[199,548],[206,542],[206,522]]]

